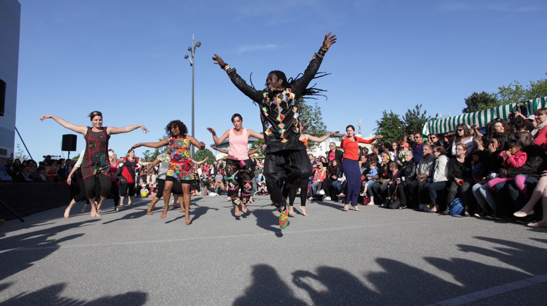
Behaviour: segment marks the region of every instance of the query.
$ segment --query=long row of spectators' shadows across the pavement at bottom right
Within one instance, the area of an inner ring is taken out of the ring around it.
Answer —
[[[479,262],[479,260],[458,258],[456,252],[451,254],[453,255],[451,258],[424,257],[426,266],[430,264],[433,267],[432,270],[440,270],[440,272],[428,272],[391,258],[376,258],[375,262],[381,270],[375,269],[373,272],[364,273],[362,278],[355,275],[356,272],[348,272],[338,267],[320,266],[314,271],[296,270],[292,273],[292,282],[309,294],[314,305],[423,305],[513,283],[547,272],[544,248],[503,239],[485,239],[484,237],[476,237],[476,239],[496,245],[489,245],[487,248],[459,245],[459,249],[490,256],[506,264],[497,265],[496,261],[492,260],[488,261],[494,262],[490,264]],[[542,241],[542,243],[546,242]],[[529,260],[525,260],[526,257]],[[288,292],[287,303],[302,303],[300,299],[294,297],[290,287],[283,283],[275,268],[266,264],[253,266],[252,276],[253,283],[245,290],[243,296],[236,299],[234,305],[261,304],[264,301],[266,304],[271,303],[268,301],[276,301],[276,295],[282,291]],[[363,280],[366,280],[366,284]],[[542,291],[541,288],[534,293],[547,298],[547,292]],[[488,296],[483,296],[483,298],[486,297]]]

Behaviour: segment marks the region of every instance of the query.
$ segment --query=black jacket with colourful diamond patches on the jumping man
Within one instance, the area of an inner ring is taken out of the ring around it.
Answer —
[[[264,150],[266,154],[281,150],[306,149],[304,143],[299,140],[300,97],[315,77],[322,61],[322,57],[315,56],[302,77],[292,81],[283,92],[271,98],[268,96],[269,91],[254,89],[247,85],[235,69],[228,70],[230,80],[237,89],[258,103],[264,140],[267,144]]]

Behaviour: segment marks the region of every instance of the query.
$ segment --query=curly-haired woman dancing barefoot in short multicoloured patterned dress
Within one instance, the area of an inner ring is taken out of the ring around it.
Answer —
[[[164,140],[153,143],[139,143],[131,148],[135,149],[139,146],[147,146],[148,148],[159,148],[160,146],[168,145],[167,152],[170,154],[169,169],[165,175],[164,185],[164,211],[161,213],[161,219],[165,219],[169,210],[169,199],[171,197],[171,189],[174,181],[182,183],[182,191],[184,193],[184,201],[179,196],[179,203],[184,202],[184,223],[190,225],[190,183],[194,179],[192,174],[192,161],[190,158],[191,145],[203,150],[205,143],[198,142],[194,137],[188,136],[188,128],[181,120],[173,120],[165,127],[165,132],[170,136]]]

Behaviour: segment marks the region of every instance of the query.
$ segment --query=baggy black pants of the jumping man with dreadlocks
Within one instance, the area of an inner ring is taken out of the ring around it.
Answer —
[[[301,180],[307,180],[312,171],[306,150],[283,150],[270,152],[264,159],[264,176],[270,199],[277,209],[287,202],[283,197],[283,185],[288,186]],[[301,191],[302,192],[302,191]]]

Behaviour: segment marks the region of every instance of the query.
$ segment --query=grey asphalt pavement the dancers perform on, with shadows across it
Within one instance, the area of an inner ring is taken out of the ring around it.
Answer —
[[[0,227],[1,305],[545,304],[547,229],[311,202],[279,229],[267,197],[146,215],[50,209]]]

